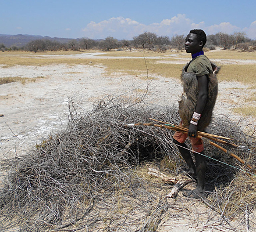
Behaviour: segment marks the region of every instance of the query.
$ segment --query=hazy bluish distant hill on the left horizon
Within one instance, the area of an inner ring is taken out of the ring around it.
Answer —
[[[5,45],[7,48],[15,45],[17,47],[25,46],[28,42],[33,41],[35,39],[49,39],[51,41],[58,41],[62,44],[69,42],[72,39],[67,38],[58,38],[58,37],[42,37],[41,35],[2,35],[0,34],[0,44]]]

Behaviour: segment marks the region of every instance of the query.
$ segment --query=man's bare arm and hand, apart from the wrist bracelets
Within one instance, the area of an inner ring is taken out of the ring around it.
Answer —
[[[207,97],[208,97],[208,76],[207,75],[203,75],[201,77],[197,76],[197,81],[198,81],[198,97],[197,97],[197,105],[195,106],[195,112],[198,114],[202,114],[202,111],[204,110],[205,104],[207,102]],[[189,132],[187,134],[190,137],[196,137],[197,125],[190,124]]]

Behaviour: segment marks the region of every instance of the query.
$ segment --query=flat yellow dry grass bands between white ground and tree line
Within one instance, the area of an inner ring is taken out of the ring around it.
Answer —
[[[87,51],[92,52],[92,51]],[[6,52],[7,53],[7,52]],[[116,59],[78,59],[76,57],[43,57],[40,55],[72,55],[80,54],[81,52],[40,52],[40,53],[29,53],[29,52],[13,52],[6,56],[6,53],[0,54],[0,63],[4,67],[10,67],[15,65],[27,65],[27,66],[45,66],[49,64],[86,64],[86,65],[101,65],[105,66],[107,70],[107,75],[112,75],[115,73],[145,76],[145,74],[150,74],[150,77],[155,77],[155,75],[161,75],[167,78],[179,78],[180,71],[182,70],[183,64],[165,64],[157,63],[159,59],[147,59],[147,57],[160,56],[161,60],[173,60],[177,57],[180,58],[190,58],[190,54],[186,52],[144,52],[139,50],[137,52],[130,51],[120,51],[120,52],[105,52],[104,56],[113,56]],[[169,56],[169,55],[178,56]],[[216,50],[213,52],[207,52],[206,55],[209,59],[254,59],[255,53],[242,53],[233,50]],[[141,59],[118,59],[119,56],[134,56],[143,57],[145,60]],[[166,59],[165,56],[169,56]],[[186,61],[184,61],[186,63]],[[147,65],[147,66],[146,66]],[[255,84],[256,66],[250,64],[235,65],[235,64],[225,64],[222,66],[222,70],[218,75],[220,81],[238,81],[244,84]]]

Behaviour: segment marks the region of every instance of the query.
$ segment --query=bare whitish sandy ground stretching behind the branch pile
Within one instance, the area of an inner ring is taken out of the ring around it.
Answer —
[[[80,56],[81,59],[87,57]],[[185,60],[182,61],[186,63]],[[26,154],[49,133],[56,133],[63,128],[69,114],[68,97],[83,100],[83,110],[91,110],[98,98],[124,93],[129,96],[132,90],[147,87],[147,80],[141,77],[118,73],[109,77],[105,73],[105,68],[101,66],[65,64],[42,67],[0,66],[0,70],[0,78],[17,76],[35,78],[35,82],[28,81],[25,84],[13,82],[0,85],[0,114],[3,114],[3,117],[0,117],[0,160]],[[153,79],[145,102],[162,106],[177,104],[182,93],[180,81],[151,74],[150,77]],[[246,97],[256,91],[248,87],[236,82],[220,82],[214,114],[224,114],[238,122],[241,116],[234,114],[233,108],[250,104],[246,102]],[[248,118],[244,129],[254,126],[256,126],[255,119]],[[3,173],[0,175],[3,176]],[[163,231],[177,231],[175,225],[179,224],[184,225],[180,227],[180,231],[197,231],[188,229],[191,227],[186,226],[186,223],[189,222],[179,222],[179,220],[166,222],[166,227],[162,228],[166,228]]]

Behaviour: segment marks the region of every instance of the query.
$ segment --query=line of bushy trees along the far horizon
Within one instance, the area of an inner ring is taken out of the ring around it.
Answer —
[[[183,49],[185,43],[184,35],[173,35],[172,38],[168,36],[158,36],[153,32],[144,32],[133,37],[132,40],[118,40],[113,37],[106,37],[101,40],[94,40],[90,38],[72,39],[63,44],[58,41],[51,41],[49,39],[35,39],[27,43],[23,48],[12,46],[6,48],[5,45],[0,44],[0,50],[29,50],[33,52],[39,51],[57,51],[57,50],[87,50],[87,49],[132,49],[132,48],[147,48],[152,50],[167,50],[167,49]],[[253,49],[256,50],[256,41],[246,36],[244,32],[235,32],[234,34],[226,34],[218,32],[217,34],[207,35],[206,48],[214,50],[216,46],[223,49],[241,49],[244,51]]]

